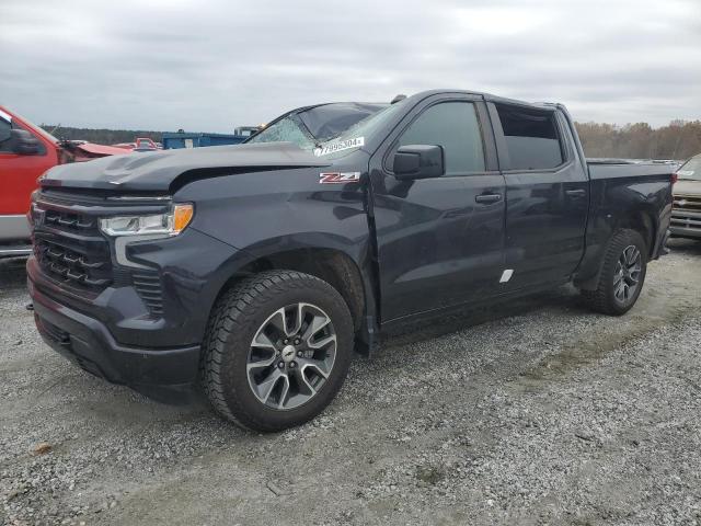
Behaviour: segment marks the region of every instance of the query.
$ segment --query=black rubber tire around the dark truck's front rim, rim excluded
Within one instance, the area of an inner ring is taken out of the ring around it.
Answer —
[[[318,306],[331,319],[335,358],[311,399],[294,409],[274,409],[256,398],[249,384],[249,354],[253,339],[273,313],[302,302]],[[317,416],[334,399],[348,371],[353,340],[350,312],[331,285],[300,272],[263,272],[227,290],[212,309],[203,348],[202,382],[215,411],[242,427],[263,432],[294,427]]]

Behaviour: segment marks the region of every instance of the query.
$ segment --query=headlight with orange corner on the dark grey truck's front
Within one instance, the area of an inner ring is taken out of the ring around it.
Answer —
[[[193,219],[193,205],[179,204],[165,214],[119,216],[100,219],[100,230],[107,236],[177,236]]]

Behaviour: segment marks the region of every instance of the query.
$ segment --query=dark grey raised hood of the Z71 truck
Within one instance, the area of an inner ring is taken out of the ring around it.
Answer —
[[[231,173],[326,165],[329,161],[291,142],[263,142],[131,153],[61,164],[46,172],[41,183],[42,186],[165,193],[174,191],[180,184],[177,179],[184,174],[189,174],[186,180],[192,181]]]

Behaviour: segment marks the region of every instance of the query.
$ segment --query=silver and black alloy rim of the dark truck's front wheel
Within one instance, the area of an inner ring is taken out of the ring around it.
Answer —
[[[246,376],[253,395],[271,409],[299,408],[324,386],[336,358],[329,315],[311,304],[273,312],[251,341]]]

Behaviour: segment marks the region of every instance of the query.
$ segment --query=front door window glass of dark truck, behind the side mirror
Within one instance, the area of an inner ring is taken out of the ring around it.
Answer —
[[[441,146],[446,175],[484,171],[480,123],[470,102],[441,102],[428,107],[406,128],[399,146]]]

